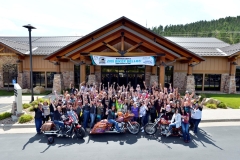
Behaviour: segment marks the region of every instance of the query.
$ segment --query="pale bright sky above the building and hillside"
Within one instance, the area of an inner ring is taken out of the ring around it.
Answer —
[[[0,0],[0,36],[84,36],[122,16],[143,26],[240,16],[239,0]]]

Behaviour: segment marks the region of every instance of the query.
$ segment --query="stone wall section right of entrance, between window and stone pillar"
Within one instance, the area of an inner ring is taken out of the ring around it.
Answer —
[[[178,88],[179,91],[186,90],[186,72],[174,72],[173,74],[173,87]]]

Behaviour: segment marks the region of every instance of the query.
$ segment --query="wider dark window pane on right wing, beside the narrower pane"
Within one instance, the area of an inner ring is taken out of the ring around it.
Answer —
[[[220,91],[221,74],[205,74],[204,90],[205,91]]]

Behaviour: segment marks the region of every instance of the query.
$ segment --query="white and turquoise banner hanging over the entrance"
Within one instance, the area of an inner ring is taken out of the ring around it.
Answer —
[[[122,66],[122,65],[155,65],[153,56],[142,57],[106,57],[106,56],[91,56],[92,63],[99,66]]]

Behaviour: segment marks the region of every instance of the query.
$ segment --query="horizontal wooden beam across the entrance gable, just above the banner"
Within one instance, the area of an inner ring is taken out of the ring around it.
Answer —
[[[117,52],[90,52],[90,55],[98,55],[98,56],[113,56],[113,57],[120,57],[121,54]],[[156,53],[145,53],[145,52],[128,52],[125,53],[124,56],[156,56]]]

